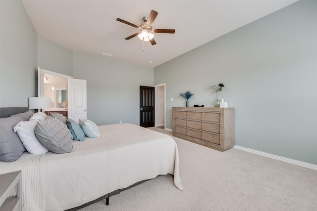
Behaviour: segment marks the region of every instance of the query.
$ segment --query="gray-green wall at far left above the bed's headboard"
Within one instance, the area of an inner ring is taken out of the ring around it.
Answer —
[[[0,107],[37,96],[37,32],[22,1],[0,0]]]

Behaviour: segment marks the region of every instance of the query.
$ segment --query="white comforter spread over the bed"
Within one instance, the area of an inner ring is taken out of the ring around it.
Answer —
[[[0,173],[22,170],[24,211],[62,211],[158,175],[173,174],[182,190],[178,150],[168,135],[132,124],[99,126],[100,138],[73,141],[73,151],[24,153],[0,162]]]

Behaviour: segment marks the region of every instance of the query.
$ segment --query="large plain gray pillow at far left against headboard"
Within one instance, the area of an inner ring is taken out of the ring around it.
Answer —
[[[0,161],[16,161],[26,151],[19,136],[13,131],[13,127],[21,121],[28,121],[32,115],[33,112],[28,110],[24,113],[0,118]]]

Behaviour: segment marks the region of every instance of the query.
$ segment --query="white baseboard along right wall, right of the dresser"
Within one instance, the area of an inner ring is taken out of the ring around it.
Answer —
[[[245,148],[245,147],[241,147],[241,146],[237,146],[237,145],[234,145],[233,148],[239,149],[239,150],[243,150],[243,151],[246,151],[246,152],[250,152],[250,153],[253,153],[253,154],[261,155],[261,156],[264,156],[264,157],[267,157],[267,158],[272,158],[272,159],[275,159],[275,160],[283,161],[283,162],[286,162],[286,163],[294,164],[294,165],[297,165],[297,166],[301,166],[301,167],[317,170],[317,165],[314,165],[314,164],[305,163],[305,162],[302,162],[302,161],[297,161],[297,160],[293,160],[293,159],[290,159],[290,158],[285,158],[285,157],[282,157],[282,156],[273,155],[273,154],[269,154],[269,153],[266,153],[266,152],[261,152],[261,151],[258,151],[258,150],[249,149],[249,148]]]

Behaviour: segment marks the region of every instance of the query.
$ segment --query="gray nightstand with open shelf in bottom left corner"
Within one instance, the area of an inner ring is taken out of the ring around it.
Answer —
[[[21,179],[20,170],[0,175],[0,211],[22,211]],[[15,186],[17,186],[17,196],[8,198]]]

